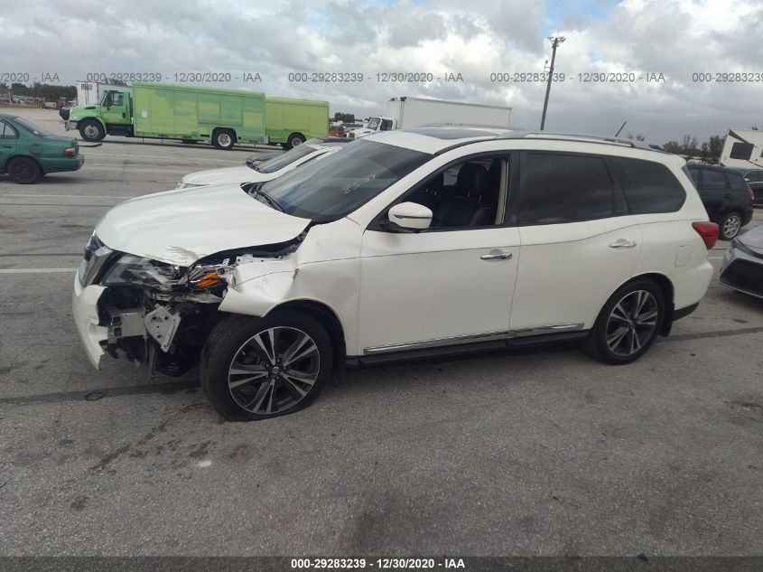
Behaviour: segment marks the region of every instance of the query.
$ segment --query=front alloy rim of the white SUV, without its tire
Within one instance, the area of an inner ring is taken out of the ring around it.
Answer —
[[[310,393],[320,370],[320,353],[310,335],[292,327],[268,328],[233,356],[228,390],[250,413],[283,413]]]

